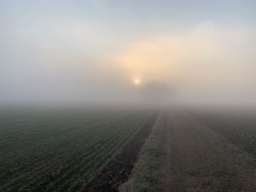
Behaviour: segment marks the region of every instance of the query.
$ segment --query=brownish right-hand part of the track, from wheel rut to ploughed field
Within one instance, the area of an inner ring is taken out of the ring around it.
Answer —
[[[256,191],[255,158],[186,112],[173,112],[177,191]]]

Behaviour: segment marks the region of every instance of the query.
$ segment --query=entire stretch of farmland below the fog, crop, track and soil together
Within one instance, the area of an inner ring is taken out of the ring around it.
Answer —
[[[256,191],[255,114],[2,110],[0,191]]]

